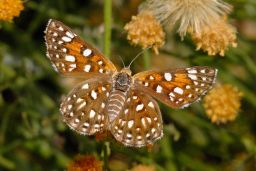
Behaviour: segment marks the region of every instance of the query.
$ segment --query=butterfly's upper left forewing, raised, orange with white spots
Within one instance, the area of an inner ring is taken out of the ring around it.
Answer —
[[[116,71],[111,61],[63,23],[49,20],[45,34],[47,56],[57,72],[90,77]]]

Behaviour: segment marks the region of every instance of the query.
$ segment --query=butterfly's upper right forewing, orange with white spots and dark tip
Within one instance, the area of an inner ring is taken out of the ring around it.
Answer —
[[[146,71],[134,75],[135,87],[173,108],[200,99],[215,82],[217,70],[210,67]]]

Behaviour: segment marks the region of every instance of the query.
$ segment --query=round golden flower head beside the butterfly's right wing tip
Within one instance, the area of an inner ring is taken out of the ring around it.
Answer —
[[[213,123],[233,121],[240,109],[242,96],[242,92],[232,85],[217,85],[204,98],[206,114]]]

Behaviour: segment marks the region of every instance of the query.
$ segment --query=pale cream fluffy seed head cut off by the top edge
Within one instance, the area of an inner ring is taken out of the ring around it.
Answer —
[[[174,26],[178,22],[183,38],[188,29],[200,33],[203,26],[229,13],[231,6],[222,0],[147,0],[140,10],[151,11],[161,23]]]

